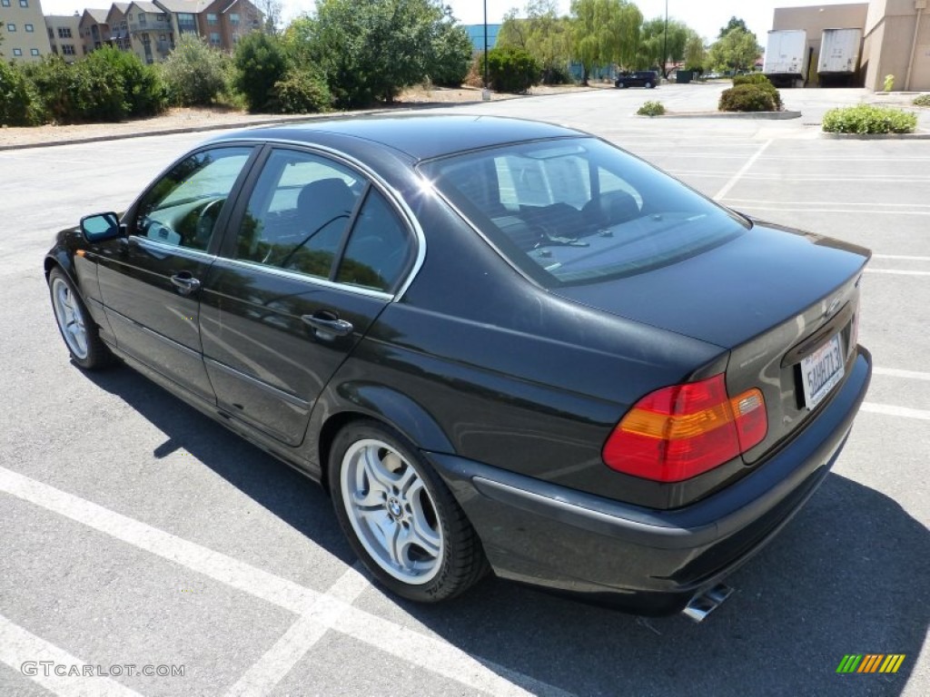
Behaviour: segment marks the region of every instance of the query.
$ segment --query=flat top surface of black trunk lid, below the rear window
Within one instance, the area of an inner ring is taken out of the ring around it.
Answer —
[[[753,221],[736,239],[684,261],[551,292],[732,349],[828,296],[870,255],[864,247]]]

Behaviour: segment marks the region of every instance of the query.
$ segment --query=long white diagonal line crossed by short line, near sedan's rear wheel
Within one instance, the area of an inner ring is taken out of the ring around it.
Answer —
[[[300,615],[300,620],[288,629],[285,637],[297,639],[294,651],[286,651],[282,638],[259,659],[264,667],[253,677],[272,680],[288,662],[296,663],[295,653],[301,647],[312,646],[316,634],[324,627],[335,629],[369,646],[403,658],[437,675],[448,677],[473,690],[494,695],[553,695],[565,697],[569,692],[525,676],[502,665],[479,659],[441,639],[428,637],[401,625],[395,625],[377,615],[352,607],[342,598],[351,598],[361,582],[350,576],[347,587],[337,589],[340,598],[318,593],[273,573],[227,557],[207,547],[196,545],[171,533],[153,528],[136,519],[108,510],[90,501],[33,480],[6,467],[0,467],[0,492],[6,492],[35,506],[76,520],[89,528],[106,533],[128,545],[144,549],[163,559],[173,561],[225,585],[270,602]],[[338,584],[339,585],[339,584]],[[306,620],[304,622],[304,620]],[[270,655],[269,655],[270,654]],[[302,655],[302,654],[300,654]],[[16,666],[18,668],[18,666]],[[250,673],[251,671],[249,671]],[[248,675],[248,673],[246,673]],[[259,681],[256,683],[258,689]],[[236,683],[237,685],[239,683]],[[267,682],[261,683],[267,685]],[[264,692],[252,690],[251,683],[241,688],[243,694]],[[61,694],[71,694],[62,692]],[[100,694],[104,694],[101,692]]]

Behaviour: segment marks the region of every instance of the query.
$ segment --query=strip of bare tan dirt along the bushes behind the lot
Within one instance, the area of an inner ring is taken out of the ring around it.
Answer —
[[[612,85],[608,85],[612,86]],[[576,85],[533,87],[529,96],[555,94],[566,91],[594,89],[596,87],[579,87]],[[520,99],[519,96],[491,93],[491,99]],[[482,100],[482,91],[474,87],[418,86],[406,90],[391,107],[428,106],[430,104],[463,104]],[[383,111],[383,110],[375,110]],[[327,114],[332,115],[332,114]],[[270,114],[250,114],[228,109],[171,109],[161,116],[120,124],[82,124],[82,125],[41,125],[31,128],[0,128],[0,149],[21,148],[34,145],[69,142],[97,138],[119,138],[145,133],[165,131],[210,130],[227,125],[259,125],[278,123],[287,120],[305,120],[316,116],[273,116]]]

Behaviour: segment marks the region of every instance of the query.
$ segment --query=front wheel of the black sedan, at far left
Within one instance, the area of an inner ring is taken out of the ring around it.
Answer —
[[[60,267],[48,274],[48,292],[52,298],[55,322],[71,360],[85,370],[105,368],[113,354],[100,340],[100,332],[72,280]]]

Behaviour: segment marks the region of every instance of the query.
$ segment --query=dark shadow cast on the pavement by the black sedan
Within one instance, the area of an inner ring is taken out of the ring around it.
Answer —
[[[86,375],[166,433],[156,456],[185,449],[353,562],[321,488],[134,371]],[[680,615],[635,617],[495,578],[439,605],[383,592],[362,599],[367,612],[403,611],[537,693],[897,695],[930,627],[930,531],[883,493],[833,473],[727,583],[737,592],[701,625]],[[894,675],[837,674],[846,654],[870,653],[906,658]]]

